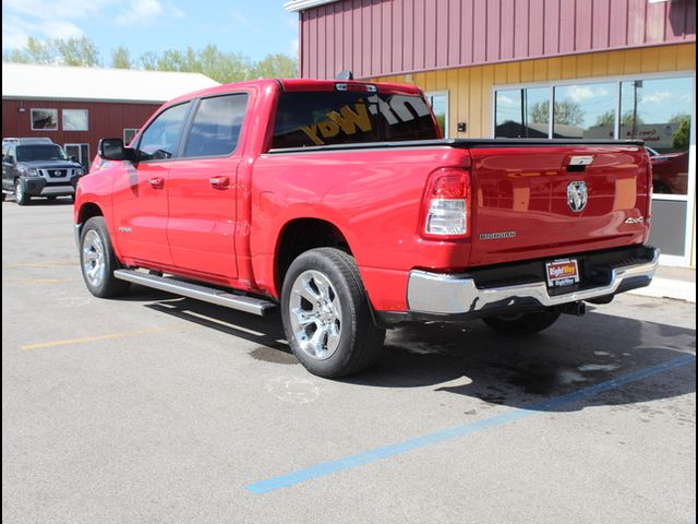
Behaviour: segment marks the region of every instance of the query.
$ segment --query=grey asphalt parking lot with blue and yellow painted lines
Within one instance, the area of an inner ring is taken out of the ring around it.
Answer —
[[[405,327],[334,382],[277,318],[92,297],[61,200],[2,203],[3,522],[695,522],[695,305]]]

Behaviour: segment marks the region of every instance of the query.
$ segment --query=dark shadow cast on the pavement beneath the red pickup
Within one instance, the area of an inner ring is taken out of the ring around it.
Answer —
[[[252,342],[250,356],[269,365],[297,365],[284,341],[278,315],[245,314],[209,303],[134,287],[146,307]],[[168,300],[168,298],[172,298]],[[597,312],[562,317],[551,329],[525,337],[504,337],[482,322],[407,325],[388,331],[372,369],[344,379],[375,388],[429,388],[434,392],[526,408],[599,382],[658,366],[689,350],[696,331]],[[604,393],[587,404],[623,405],[670,398],[696,391],[689,364],[653,379]],[[562,410],[580,408],[574,404]]]

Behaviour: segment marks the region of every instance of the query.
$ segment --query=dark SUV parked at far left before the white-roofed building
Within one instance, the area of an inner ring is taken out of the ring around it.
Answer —
[[[2,140],[2,200],[14,194],[16,203],[26,205],[32,196],[74,196],[77,179],[85,174],[50,139]]]

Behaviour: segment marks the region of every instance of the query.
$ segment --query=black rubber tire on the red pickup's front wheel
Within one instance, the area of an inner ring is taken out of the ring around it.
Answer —
[[[93,246],[97,243],[97,238],[101,242],[104,250],[101,262],[99,263],[104,270],[98,271],[101,276],[98,282],[91,278],[87,274],[87,267],[91,265],[87,257],[89,253],[98,253],[98,250],[93,248]],[[80,269],[83,274],[83,279],[85,281],[85,286],[87,286],[89,293],[99,298],[124,295],[129,290],[129,287],[131,287],[131,284],[115,278],[113,272],[119,267],[121,267],[121,264],[117,260],[117,255],[111,247],[111,239],[109,238],[104,217],[93,216],[85,223],[80,235]]]

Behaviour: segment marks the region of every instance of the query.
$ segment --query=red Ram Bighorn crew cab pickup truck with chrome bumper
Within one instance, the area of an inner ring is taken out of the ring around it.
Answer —
[[[422,92],[264,80],[164,105],[80,180],[87,288],[267,314],[312,373],[356,373],[402,322],[505,334],[650,283],[641,142],[443,140]]]

